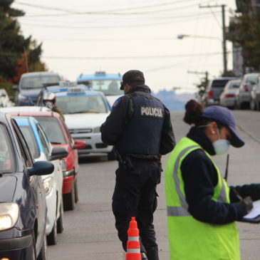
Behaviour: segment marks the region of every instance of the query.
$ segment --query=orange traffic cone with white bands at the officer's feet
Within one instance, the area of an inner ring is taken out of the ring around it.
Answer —
[[[128,245],[125,260],[142,260],[140,253],[139,229],[137,229],[135,217],[132,217],[129,224]]]

